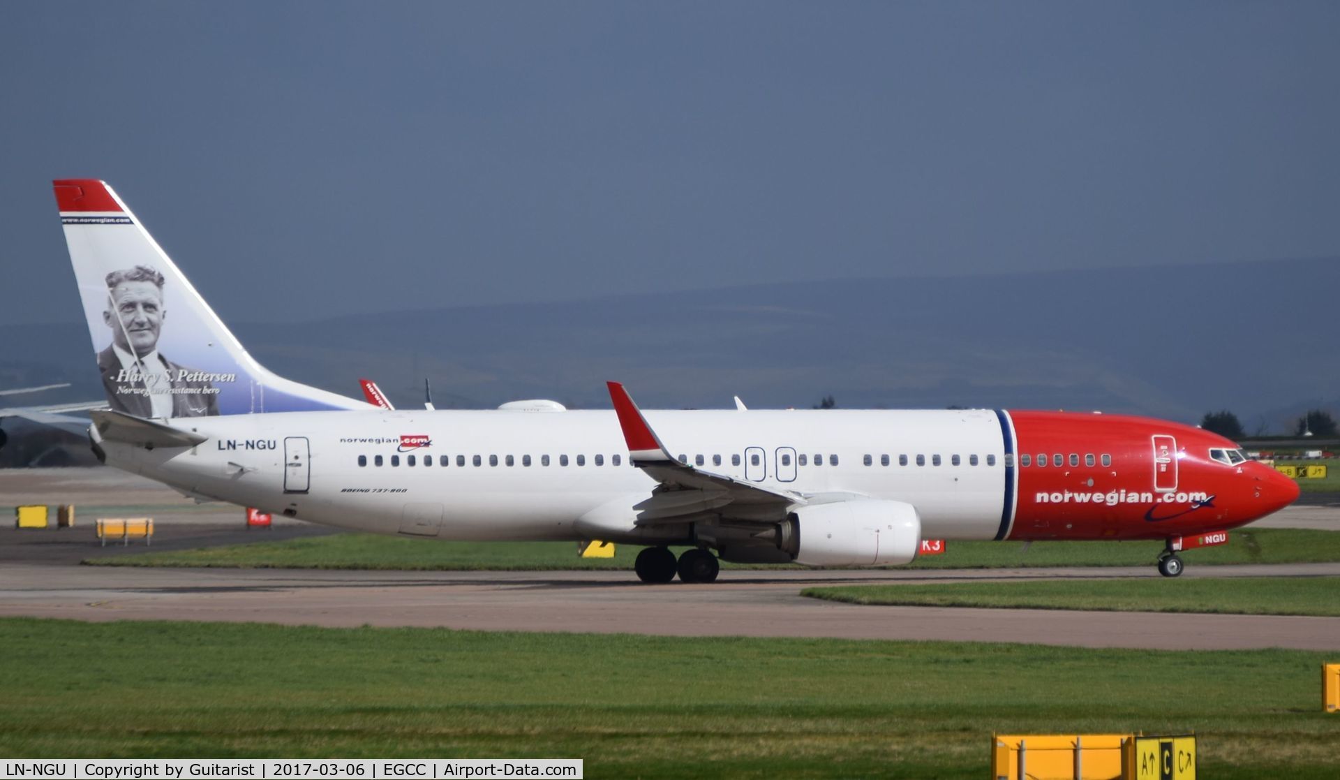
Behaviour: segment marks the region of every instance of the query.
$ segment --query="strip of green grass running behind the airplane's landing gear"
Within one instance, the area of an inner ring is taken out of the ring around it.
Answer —
[[[169,552],[91,558],[100,566],[185,566],[244,568],[382,570],[631,570],[638,547],[619,545],[612,559],[578,558],[567,541],[434,541],[339,533]],[[997,568],[1048,566],[1154,567],[1162,541],[950,541],[943,555],[921,558],[913,568]],[[1340,532],[1293,528],[1233,531],[1221,547],[1183,554],[1187,566],[1229,563],[1340,562]],[[725,568],[776,568],[724,564]],[[800,567],[793,567],[800,568]]]

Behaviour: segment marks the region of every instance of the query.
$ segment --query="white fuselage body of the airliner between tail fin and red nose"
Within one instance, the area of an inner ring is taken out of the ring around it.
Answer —
[[[993,539],[1001,527],[1008,417],[990,410],[646,418],[671,454],[690,464],[701,456],[704,470],[807,496],[906,501],[929,539]],[[193,495],[377,533],[679,540],[635,527],[632,505],[657,482],[630,464],[614,411],[308,411],[174,424],[209,440],[154,450],[113,442],[107,462]],[[681,532],[691,529],[671,536]]]

